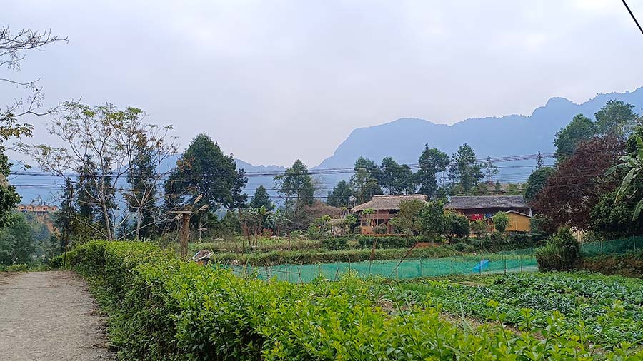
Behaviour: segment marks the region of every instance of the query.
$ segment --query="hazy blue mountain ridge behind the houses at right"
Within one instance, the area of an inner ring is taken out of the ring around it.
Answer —
[[[616,99],[643,113],[643,87],[626,93],[599,94],[582,104],[565,98],[551,98],[529,116],[469,118],[452,126],[417,118],[402,118],[379,126],[357,128],[335,153],[314,168],[350,167],[359,156],[379,163],[392,156],[399,163],[417,163],[424,144],[452,153],[462,143],[476,151],[478,158],[513,156],[554,151],[554,134],[582,113],[594,118],[607,101]]]

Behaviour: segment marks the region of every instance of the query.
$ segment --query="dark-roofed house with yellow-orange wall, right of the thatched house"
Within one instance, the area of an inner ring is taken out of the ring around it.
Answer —
[[[462,213],[469,220],[485,220],[489,230],[494,230],[492,217],[498,212],[509,215],[507,232],[529,232],[532,208],[522,195],[467,195],[452,197],[444,206],[446,210]]]

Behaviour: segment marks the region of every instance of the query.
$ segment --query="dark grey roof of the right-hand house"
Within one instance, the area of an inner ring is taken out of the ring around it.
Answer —
[[[469,219],[484,219],[497,212],[514,211],[532,215],[532,208],[522,195],[467,195],[452,197],[444,209],[455,210]]]

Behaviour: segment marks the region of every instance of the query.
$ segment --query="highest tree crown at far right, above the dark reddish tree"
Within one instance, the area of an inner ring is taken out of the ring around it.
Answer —
[[[608,101],[594,113],[594,129],[601,136],[627,138],[637,123],[638,115],[632,111],[634,106],[623,101]]]

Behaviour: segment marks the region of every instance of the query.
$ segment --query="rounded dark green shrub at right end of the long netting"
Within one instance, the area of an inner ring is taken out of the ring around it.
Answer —
[[[561,228],[535,255],[539,270],[570,270],[580,258],[580,247],[569,228]]]

